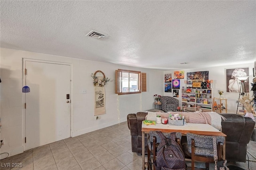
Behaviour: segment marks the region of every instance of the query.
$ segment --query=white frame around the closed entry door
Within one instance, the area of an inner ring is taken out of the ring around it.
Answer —
[[[49,60],[40,60],[40,59],[32,59],[32,58],[22,58],[22,87],[25,86],[25,63],[26,61],[30,62],[43,62],[43,63],[50,63],[50,64],[62,64],[70,66],[70,137],[73,134],[73,83],[72,83],[72,63],[67,62],[56,62],[56,61],[49,61]],[[22,87],[20,89],[22,89]],[[26,110],[25,110],[25,102],[26,102],[26,93],[22,93],[22,144],[23,150],[26,151]]]

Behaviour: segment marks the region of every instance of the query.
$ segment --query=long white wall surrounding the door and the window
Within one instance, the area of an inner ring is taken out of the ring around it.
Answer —
[[[72,64],[72,136],[124,122],[129,113],[154,108],[154,94],[163,95],[162,85],[159,83],[164,80],[164,72],[161,71],[6,48],[1,48],[0,50],[0,77],[2,80],[0,86],[0,116],[2,124],[0,138],[1,140],[5,138],[1,153],[8,152],[9,156],[23,152],[25,145],[22,58]],[[147,92],[119,96],[115,94],[115,70],[117,69],[146,72]],[[106,77],[110,78],[110,82],[105,86],[106,114],[100,115],[99,120],[94,120],[94,86],[92,84],[93,79],[90,76],[96,70],[101,70]],[[86,94],[82,94],[84,89],[87,91]]]

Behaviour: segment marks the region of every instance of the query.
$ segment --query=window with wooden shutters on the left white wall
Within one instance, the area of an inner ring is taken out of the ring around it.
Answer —
[[[142,74],[143,81],[146,82],[146,73],[132,70],[116,70],[116,94],[134,94],[142,92]],[[144,85],[144,84],[143,84]],[[146,85],[143,91],[146,91]]]

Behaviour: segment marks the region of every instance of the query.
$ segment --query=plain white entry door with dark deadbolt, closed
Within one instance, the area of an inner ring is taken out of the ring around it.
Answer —
[[[70,137],[70,65],[25,61],[26,150]]]

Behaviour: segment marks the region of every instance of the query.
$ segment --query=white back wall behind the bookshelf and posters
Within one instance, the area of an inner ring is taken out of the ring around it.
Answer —
[[[213,97],[218,98],[220,95],[218,94],[218,90],[223,90],[223,97],[228,99],[227,100],[227,112],[228,113],[236,113],[237,103],[239,93],[238,92],[227,92],[226,90],[226,69],[232,68],[249,68],[249,90],[252,88],[251,82],[253,77],[253,68],[254,63],[247,63],[247,64],[237,64],[237,65],[228,65],[228,66],[218,66],[218,67],[210,67],[210,68],[196,68],[196,69],[187,69],[184,70],[184,79],[180,79],[180,90],[179,90],[179,104],[181,105],[181,93],[182,93],[182,86],[185,86],[184,80],[186,80],[187,72],[200,72],[200,71],[209,71],[209,80],[213,80],[212,89],[213,89]],[[175,70],[181,71],[181,70]],[[164,74],[172,74],[172,78],[174,78],[174,71],[164,72]],[[162,83],[164,84],[164,83]],[[163,85],[164,86],[164,85]],[[172,96],[172,93],[164,92],[165,96]],[[252,96],[252,92],[250,91],[250,96]],[[241,109],[241,108],[238,108]]]

